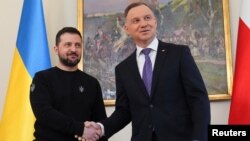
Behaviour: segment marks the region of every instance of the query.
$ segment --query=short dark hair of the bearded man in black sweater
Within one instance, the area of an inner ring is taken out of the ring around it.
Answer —
[[[80,33],[80,31],[74,27],[64,27],[61,30],[59,30],[56,34],[56,45],[58,45],[61,41],[60,37],[62,34],[64,33],[72,33],[72,34],[77,34],[81,37],[82,39],[82,35]]]

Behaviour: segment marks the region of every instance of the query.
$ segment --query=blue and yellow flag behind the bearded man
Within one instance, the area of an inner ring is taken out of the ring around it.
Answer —
[[[29,88],[35,72],[50,67],[42,0],[24,0],[8,91],[0,120],[1,141],[31,141],[35,117]]]

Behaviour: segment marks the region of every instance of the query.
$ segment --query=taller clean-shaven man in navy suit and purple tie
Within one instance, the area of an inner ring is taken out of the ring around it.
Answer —
[[[210,103],[188,46],[158,40],[156,17],[145,3],[130,4],[125,18],[136,50],[115,68],[115,111],[98,124],[89,122],[89,129],[101,128],[109,138],[132,121],[131,141],[207,141]],[[142,79],[145,48],[153,70],[149,91]]]

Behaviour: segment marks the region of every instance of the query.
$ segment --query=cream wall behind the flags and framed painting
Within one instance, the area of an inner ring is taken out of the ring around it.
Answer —
[[[54,45],[56,32],[63,26],[77,26],[77,0],[43,0],[47,35],[50,49]],[[233,60],[237,40],[238,15],[241,0],[229,0],[231,39]],[[3,111],[8,79],[12,64],[13,51],[16,46],[22,0],[0,1],[0,117]],[[56,56],[50,50],[52,64],[56,63]],[[21,81],[20,81],[21,83]],[[227,124],[230,101],[211,102],[212,124]],[[110,115],[114,107],[106,108]],[[128,141],[131,136],[130,124],[110,138],[110,141]]]

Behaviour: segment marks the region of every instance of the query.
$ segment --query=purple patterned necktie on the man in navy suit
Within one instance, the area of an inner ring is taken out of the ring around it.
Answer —
[[[142,80],[147,88],[148,94],[151,93],[151,83],[152,83],[152,63],[149,57],[151,48],[145,48],[142,53],[145,55],[145,63],[143,66]]]

